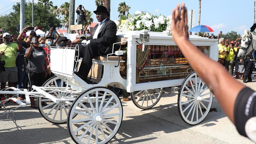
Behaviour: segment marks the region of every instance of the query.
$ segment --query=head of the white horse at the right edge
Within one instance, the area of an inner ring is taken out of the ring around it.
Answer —
[[[241,38],[240,50],[237,54],[239,59],[244,59],[245,56],[253,49],[256,50],[256,36],[249,32],[247,29],[244,30],[244,35]]]

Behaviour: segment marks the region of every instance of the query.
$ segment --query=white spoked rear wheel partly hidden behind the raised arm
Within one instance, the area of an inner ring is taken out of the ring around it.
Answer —
[[[195,125],[202,122],[212,105],[213,93],[195,72],[183,81],[178,95],[178,110],[182,120]]]

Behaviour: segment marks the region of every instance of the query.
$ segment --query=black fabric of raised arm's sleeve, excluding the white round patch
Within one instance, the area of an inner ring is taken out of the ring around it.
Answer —
[[[248,119],[256,116],[256,92],[251,88],[243,88],[236,99],[234,107],[234,119],[237,131],[248,137],[245,132],[245,124]]]

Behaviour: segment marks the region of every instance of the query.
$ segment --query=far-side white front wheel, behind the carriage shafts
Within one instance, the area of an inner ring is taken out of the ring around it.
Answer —
[[[57,76],[54,76],[48,79],[43,84],[43,87],[65,87],[65,82],[60,78],[58,78]],[[65,98],[65,97],[72,96],[72,94],[69,92],[60,92],[55,90],[49,90],[47,92],[53,96],[56,96],[56,98]],[[47,105],[43,106],[42,102],[47,103]],[[50,99],[46,99],[42,97],[38,97],[38,100],[37,100],[38,109],[41,115],[47,121],[51,123],[56,123],[56,124],[67,122],[68,112],[71,104],[72,104],[72,101],[65,101],[65,102],[61,101],[59,104],[56,104]]]

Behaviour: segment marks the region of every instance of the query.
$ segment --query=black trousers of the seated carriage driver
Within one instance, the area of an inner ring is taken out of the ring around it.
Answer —
[[[78,73],[87,77],[92,67],[92,59],[100,56],[99,44],[89,43],[85,47],[79,47],[79,58],[83,57]]]

